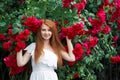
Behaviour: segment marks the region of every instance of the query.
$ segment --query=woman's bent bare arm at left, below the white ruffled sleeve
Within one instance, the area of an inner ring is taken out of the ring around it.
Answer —
[[[30,59],[31,54],[29,52],[26,52],[24,55],[22,55],[22,50],[17,53],[17,65],[19,67],[24,66],[27,64],[27,62]]]

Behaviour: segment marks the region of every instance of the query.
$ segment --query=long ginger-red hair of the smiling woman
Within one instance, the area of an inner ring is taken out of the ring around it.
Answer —
[[[60,39],[58,37],[58,31],[57,31],[56,25],[53,21],[48,19],[43,20],[43,24],[47,25],[52,31],[52,36],[50,38],[50,45],[54,53],[58,57],[58,62],[57,62],[58,66],[62,66],[61,51],[62,50],[65,51],[65,48],[60,42]],[[44,39],[41,36],[41,27],[40,27],[37,31],[37,36],[36,36],[36,48],[35,48],[35,54],[34,54],[35,63],[38,62],[38,59],[43,54],[43,46],[44,46]]]

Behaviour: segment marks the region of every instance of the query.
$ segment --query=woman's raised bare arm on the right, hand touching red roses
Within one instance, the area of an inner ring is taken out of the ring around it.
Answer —
[[[68,46],[68,53],[65,51],[62,51],[62,57],[63,57],[63,59],[65,59],[67,61],[75,61],[75,56],[73,54],[73,45],[72,45],[71,39],[68,39],[68,37],[66,37],[66,41],[67,41],[67,46]]]

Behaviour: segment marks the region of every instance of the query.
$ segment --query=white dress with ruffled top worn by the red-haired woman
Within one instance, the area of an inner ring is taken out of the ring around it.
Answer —
[[[31,52],[32,56],[32,73],[30,80],[58,80],[57,74],[54,71],[57,69],[57,56],[52,51],[43,49],[43,56],[38,63],[34,63],[35,43],[31,43],[24,50]]]

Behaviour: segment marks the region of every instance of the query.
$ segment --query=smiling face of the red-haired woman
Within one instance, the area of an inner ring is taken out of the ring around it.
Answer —
[[[49,40],[52,36],[51,29],[45,24],[41,26],[41,36],[44,40]]]

